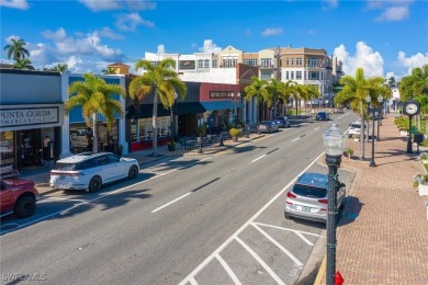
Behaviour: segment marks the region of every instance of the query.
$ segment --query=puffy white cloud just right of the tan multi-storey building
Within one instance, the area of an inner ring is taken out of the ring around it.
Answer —
[[[373,48],[364,42],[358,42],[356,45],[356,54],[352,56],[348,53],[345,45],[335,48],[334,56],[343,64],[343,71],[347,76],[353,77],[357,68],[364,69],[367,78],[383,77],[384,60],[379,52],[373,52]]]

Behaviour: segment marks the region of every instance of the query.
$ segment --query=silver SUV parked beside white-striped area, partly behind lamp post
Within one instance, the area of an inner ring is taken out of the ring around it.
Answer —
[[[338,182],[337,207],[345,206],[346,185]],[[285,218],[297,217],[327,223],[327,174],[305,172],[286,193]]]

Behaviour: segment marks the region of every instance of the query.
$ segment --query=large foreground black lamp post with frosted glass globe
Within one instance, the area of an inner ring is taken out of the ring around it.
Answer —
[[[328,166],[328,217],[327,217],[327,285],[335,284],[336,274],[336,225],[337,225],[337,187],[341,156],[345,150],[345,135],[338,124],[324,134],[324,149]]]

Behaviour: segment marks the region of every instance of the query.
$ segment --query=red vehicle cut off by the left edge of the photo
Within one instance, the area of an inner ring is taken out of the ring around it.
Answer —
[[[0,217],[15,214],[19,218],[26,218],[34,214],[38,191],[30,180],[1,180]]]

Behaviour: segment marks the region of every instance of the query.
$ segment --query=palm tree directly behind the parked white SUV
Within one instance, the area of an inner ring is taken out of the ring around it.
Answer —
[[[119,84],[110,84],[92,73],[83,75],[85,81],[75,81],[68,88],[70,99],[64,104],[66,112],[81,106],[88,127],[92,126],[92,151],[98,152],[97,113],[103,115],[109,130],[115,121],[114,114],[123,114],[121,102],[113,98],[125,96],[125,90]]]

